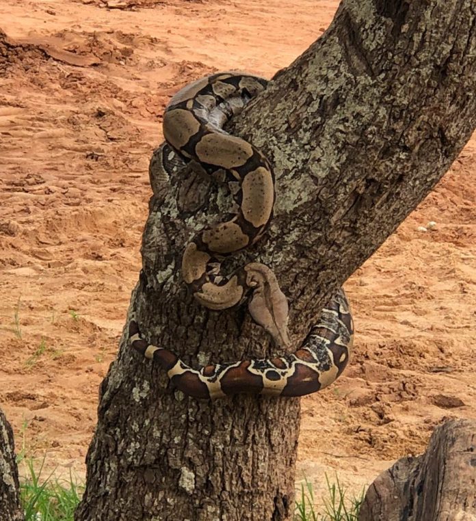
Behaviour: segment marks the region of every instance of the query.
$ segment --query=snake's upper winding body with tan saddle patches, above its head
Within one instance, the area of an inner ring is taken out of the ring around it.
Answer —
[[[223,131],[265,85],[264,79],[247,75],[212,75],[178,92],[163,116],[163,135],[185,161],[193,161],[209,176],[222,174],[222,181],[235,185],[236,213],[199,232],[183,254],[183,278],[196,300],[210,309],[230,308],[243,299],[246,267],[226,278],[220,261],[256,242],[272,217],[271,165],[254,146]]]

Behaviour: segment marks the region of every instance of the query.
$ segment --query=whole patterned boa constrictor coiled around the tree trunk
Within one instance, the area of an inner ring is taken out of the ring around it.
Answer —
[[[182,274],[195,299],[213,310],[230,308],[248,295],[248,308],[280,347],[288,347],[288,306],[271,269],[250,263],[231,276],[220,273],[222,260],[256,242],[272,219],[274,173],[267,159],[244,139],[223,128],[266,86],[264,79],[220,72],[190,83],[166,107],[163,135],[186,162],[228,182],[237,211],[199,232],[187,245]],[[168,152],[163,150],[163,168]],[[173,152],[172,152],[173,155]],[[250,294],[251,293],[251,294]],[[302,396],[334,382],[349,360],[354,327],[343,290],[323,309],[319,321],[295,353],[279,358],[228,362],[192,369],[169,349],[149,345],[137,322],[129,324],[131,346],[166,369],[172,384],[197,398],[239,392]]]

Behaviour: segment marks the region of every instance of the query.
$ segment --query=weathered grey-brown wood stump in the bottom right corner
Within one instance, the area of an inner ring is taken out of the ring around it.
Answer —
[[[399,459],[367,490],[359,521],[474,521],[476,421],[435,429],[426,453]]]

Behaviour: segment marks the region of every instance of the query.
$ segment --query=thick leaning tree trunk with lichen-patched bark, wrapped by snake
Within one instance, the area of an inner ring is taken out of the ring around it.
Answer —
[[[277,198],[267,235],[231,264],[274,269],[296,348],[471,137],[475,31],[471,0],[344,0],[234,122],[274,164]],[[222,189],[193,174],[158,178],[154,159],[150,176],[128,321],[191,364],[276,354],[246,307],[209,311],[181,280],[185,243],[205,216],[226,213]],[[101,386],[76,520],[288,520],[300,400],[184,397],[126,337]]]

